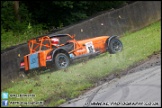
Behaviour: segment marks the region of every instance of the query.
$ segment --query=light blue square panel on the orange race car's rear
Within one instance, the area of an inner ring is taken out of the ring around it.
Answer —
[[[38,63],[38,53],[32,54],[29,56],[29,68],[34,69],[38,68],[39,63]]]

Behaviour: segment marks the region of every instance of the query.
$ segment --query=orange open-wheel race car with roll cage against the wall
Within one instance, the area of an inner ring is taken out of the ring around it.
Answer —
[[[99,36],[75,40],[75,35],[57,34],[41,36],[28,41],[30,54],[25,55],[20,69],[29,71],[41,67],[64,69],[71,61],[86,56],[122,51],[122,42],[117,36]]]

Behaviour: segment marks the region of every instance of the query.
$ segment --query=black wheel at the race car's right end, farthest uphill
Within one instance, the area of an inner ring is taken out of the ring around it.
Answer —
[[[117,52],[120,52],[123,50],[123,44],[122,42],[117,39],[113,38],[110,40],[109,46],[108,46],[108,51],[110,54],[115,54]]]

